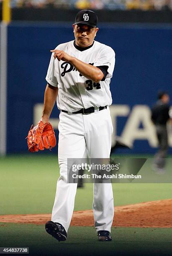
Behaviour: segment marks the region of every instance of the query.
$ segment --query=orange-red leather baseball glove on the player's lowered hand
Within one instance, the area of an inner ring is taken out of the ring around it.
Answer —
[[[30,152],[52,149],[56,146],[56,136],[51,123],[45,125],[40,120],[36,126],[30,128],[28,136],[28,149]]]

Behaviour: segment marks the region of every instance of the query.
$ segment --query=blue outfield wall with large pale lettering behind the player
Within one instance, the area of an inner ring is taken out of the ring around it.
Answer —
[[[134,146],[131,151],[117,152],[154,153],[156,138],[150,141],[153,128],[146,116],[159,89],[167,90],[172,97],[172,27],[100,24],[99,28],[95,39],[116,52],[110,85],[113,136],[122,136]],[[25,137],[40,111],[34,106],[43,103],[50,50],[73,38],[71,24],[21,22],[8,26],[8,153],[28,152]],[[58,118],[58,114],[55,106],[51,117]],[[137,127],[132,127],[133,122]],[[56,135],[58,138],[58,131]]]

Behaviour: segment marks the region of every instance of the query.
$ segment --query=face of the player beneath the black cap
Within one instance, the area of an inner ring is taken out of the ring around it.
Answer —
[[[93,44],[99,28],[92,28],[86,24],[73,24],[73,33],[75,36],[76,45],[80,47],[87,47]]]

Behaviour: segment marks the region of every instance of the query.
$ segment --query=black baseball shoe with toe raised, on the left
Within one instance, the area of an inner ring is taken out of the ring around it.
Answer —
[[[45,225],[48,234],[56,238],[59,242],[65,241],[67,238],[66,230],[58,222],[48,221]]]

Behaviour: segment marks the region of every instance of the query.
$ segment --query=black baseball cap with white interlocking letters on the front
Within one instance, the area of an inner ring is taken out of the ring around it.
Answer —
[[[75,25],[76,24],[87,24],[92,28],[97,26],[97,15],[91,10],[81,10],[76,14]]]

